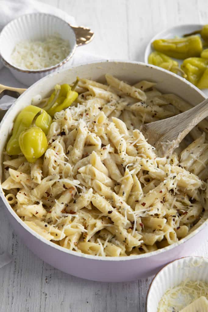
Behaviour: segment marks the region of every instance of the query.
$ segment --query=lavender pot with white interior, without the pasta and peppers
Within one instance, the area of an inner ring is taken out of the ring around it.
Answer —
[[[54,85],[71,83],[77,76],[103,82],[105,73],[130,83],[136,83],[139,80],[155,81],[157,88],[162,92],[175,93],[192,105],[197,105],[205,99],[203,93],[185,79],[144,63],[102,61],[55,72],[42,78],[25,91],[4,116],[0,124],[0,155],[2,155],[7,142],[11,123],[24,107],[30,105],[33,96],[40,94],[42,97],[46,97]],[[204,222],[178,243],[147,254],[114,258],[80,254],[47,241],[31,230],[7,203],[2,188],[0,188],[0,196],[14,230],[34,254],[61,271],[89,280],[121,282],[153,275],[170,261],[191,255],[206,239],[207,222]]]

